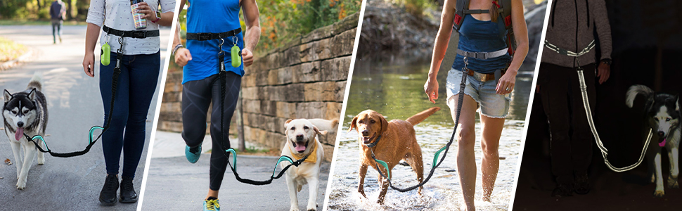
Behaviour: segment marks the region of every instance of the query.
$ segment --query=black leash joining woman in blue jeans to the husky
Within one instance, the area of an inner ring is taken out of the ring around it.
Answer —
[[[28,136],[26,133],[24,133],[24,137],[26,137],[26,140],[33,142],[33,144],[38,148],[38,151],[41,151],[42,153],[50,153],[53,157],[58,157],[58,158],[70,158],[70,157],[75,157],[79,155],[84,155],[85,153],[88,153],[90,151],[90,148],[97,142],[102,137],[102,134],[106,132],[109,129],[109,126],[111,124],[111,116],[112,113],[114,112],[114,100],[116,98],[116,89],[118,87],[118,77],[121,74],[121,60],[123,59],[123,37],[119,37],[118,39],[119,44],[121,44],[120,49],[116,51],[116,66],[114,68],[114,72],[112,75],[111,79],[111,103],[109,106],[109,117],[107,117],[107,124],[104,127],[100,126],[93,126],[90,128],[90,132],[88,133],[88,139],[89,143],[88,146],[85,147],[83,151],[75,151],[71,153],[55,153],[53,152],[49,146],[47,146],[47,141],[45,141],[43,136],[40,135],[35,135],[33,137]],[[101,129],[102,132],[97,136],[96,139],[92,139],[92,134],[95,132],[96,129]],[[35,139],[40,139],[40,141],[43,142],[45,145],[46,149],[43,149],[40,147],[40,144],[35,140]]]

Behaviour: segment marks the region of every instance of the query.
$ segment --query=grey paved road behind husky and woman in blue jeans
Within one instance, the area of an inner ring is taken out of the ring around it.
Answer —
[[[86,77],[82,70],[85,32],[85,26],[64,26],[63,44],[54,45],[50,26],[0,27],[1,37],[31,46],[39,52],[31,63],[0,72],[0,89],[22,91],[34,72],[43,72],[43,91],[48,98],[50,113],[47,141],[51,149],[58,152],[81,151],[87,145],[88,129],[92,125],[103,124],[104,120],[98,88],[99,68],[94,79]],[[169,28],[162,30],[161,34],[163,61]],[[95,52],[99,52],[99,49]],[[158,88],[157,85],[157,93]],[[156,101],[157,97],[147,116],[147,140],[150,139]],[[8,139],[4,132],[1,134],[0,159],[9,158],[14,162]],[[134,179],[137,190],[142,182],[146,151],[145,148]],[[113,207],[100,205],[98,195],[106,177],[105,172],[99,143],[89,153],[77,158],[46,156],[45,165],[39,166],[34,162],[27,187],[22,191],[15,188],[15,165],[7,166],[0,162],[0,177],[4,177],[0,179],[0,210],[136,210],[137,203],[119,203]]]

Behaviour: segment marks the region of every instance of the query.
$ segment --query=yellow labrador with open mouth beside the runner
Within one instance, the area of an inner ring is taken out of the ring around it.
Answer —
[[[308,158],[298,167],[290,167],[286,172],[291,209],[298,210],[298,198],[296,192],[301,191],[304,184],[309,184],[309,198],[307,210],[317,209],[317,193],[320,180],[320,165],[324,158],[322,143],[317,139],[318,134],[327,134],[327,129],[333,129],[338,120],[322,119],[297,119],[287,120],[284,123],[286,144],[282,149],[282,155],[287,155],[294,160],[299,160],[308,155]],[[320,130],[323,128],[325,130]],[[282,162],[281,167],[288,165]]]

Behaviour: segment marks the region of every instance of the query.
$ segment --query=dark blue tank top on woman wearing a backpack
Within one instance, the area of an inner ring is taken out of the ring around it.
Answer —
[[[464,21],[459,30],[458,49],[469,52],[493,52],[505,49],[507,44],[506,30],[503,18],[497,18],[497,23],[492,21],[477,20],[470,14],[464,16]],[[464,68],[463,56],[457,55],[452,64],[455,70]],[[480,60],[469,58],[467,68],[480,73],[493,73],[495,70],[506,68],[511,60],[509,53],[497,58]]]

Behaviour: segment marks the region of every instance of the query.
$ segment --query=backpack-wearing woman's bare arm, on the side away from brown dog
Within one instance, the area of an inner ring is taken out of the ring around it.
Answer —
[[[514,90],[516,74],[528,54],[528,29],[526,27],[526,19],[523,16],[523,2],[521,0],[512,0],[511,15],[517,47],[507,72],[500,78],[495,88],[497,94],[510,94]]]

